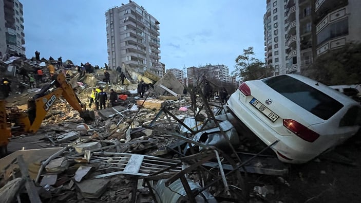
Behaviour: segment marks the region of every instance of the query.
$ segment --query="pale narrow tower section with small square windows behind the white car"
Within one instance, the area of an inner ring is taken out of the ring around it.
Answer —
[[[264,57],[275,75],[286,73],[286,44],[284,33],[283,0],[267,0],[267,11],[263,16]]]

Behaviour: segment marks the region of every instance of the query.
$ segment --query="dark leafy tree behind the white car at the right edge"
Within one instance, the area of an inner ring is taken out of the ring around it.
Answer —
[[[360,84],[360,67],[361,44],[348,43],[318,56],[302,75],[326,85]]]

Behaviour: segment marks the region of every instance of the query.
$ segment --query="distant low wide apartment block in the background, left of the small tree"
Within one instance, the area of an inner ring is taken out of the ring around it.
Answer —
[[[196,85],[202,77],[208,80],[217,80],[220,82],[231,82],[230,69],[225,65],[205,65],[202,67],[188,67],[188,84]]]

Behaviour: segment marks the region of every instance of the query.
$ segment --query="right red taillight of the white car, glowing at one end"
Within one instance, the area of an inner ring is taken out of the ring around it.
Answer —
[[[314,142],[319,137],[317,133],[292,119],[283,119],[283,126],[308,142]]]

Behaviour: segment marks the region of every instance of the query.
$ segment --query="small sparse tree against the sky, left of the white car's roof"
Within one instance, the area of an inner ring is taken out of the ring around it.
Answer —
[[[243,81],[258,80],[273,76],[274,68],[254,58],[254,55],[253,47],[243,49],[243,54],[239,55],[235,60],[236,68],[232,74],[241,77]]]

